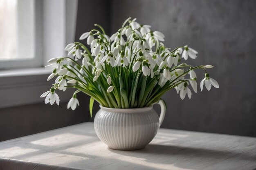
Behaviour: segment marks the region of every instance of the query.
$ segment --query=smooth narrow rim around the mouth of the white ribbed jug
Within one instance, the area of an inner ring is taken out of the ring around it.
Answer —
[[[138,113],[138,112],[149,111],[153,108],[153,106],[148,106],[144,108],[107,108],[101,105],[99,106],[102,110],[105,110],[108,112],[115,112],[115,113]]]

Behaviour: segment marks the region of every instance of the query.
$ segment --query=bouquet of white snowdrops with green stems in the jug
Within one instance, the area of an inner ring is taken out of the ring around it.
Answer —
[[[47,81],[56,76],[50,89],[41,95],[45,103],[59,105],[56,90],[76,88],[67,108],[74,110],[79,105],[76,94],[83,92],[91,97],[92,104],[109,108],[142,108],[151,106],[167,91],[175,88],[181,99],[187,95],[191,98],[191,90],[197,93],[197,76],[195,69],[205,71],[205,78],[200,82],[201,91],[205,85],[218,88],[216,80],[209,77],[207,68],[211,65],[191,66],[181,63],[188,57],[195,59],[197,51],[188,46],[170,49],[164,42],[164,35],[150,30],[149,25],[141,25],[128,18],[121,29],[111,37],[104,29],[93,29],[83,33],[80,40],[87,38],[90,49],[80,42],[68,44],[65,48],[68,56],[48,61],[47,69],[52,69]],[[188,78],[185,78],[188,75]]]

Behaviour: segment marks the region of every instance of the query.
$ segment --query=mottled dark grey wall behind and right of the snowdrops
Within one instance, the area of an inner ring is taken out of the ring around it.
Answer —
[[[128,18],[166,36],[171,48],[198,51],[192,65],[210,64],[220,85],[183,101],[175,90],[163,96],[168,109],[163,128],[256,136],[255,0],[113,0],[112,33]],[[204,77],[196,71],[198,80]]]

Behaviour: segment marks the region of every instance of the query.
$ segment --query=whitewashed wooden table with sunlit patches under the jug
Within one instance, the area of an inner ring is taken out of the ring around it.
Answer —
[[[256,170],[256,138],[160,129],[121,151],[83,123],[0,142],[0,170]]]

